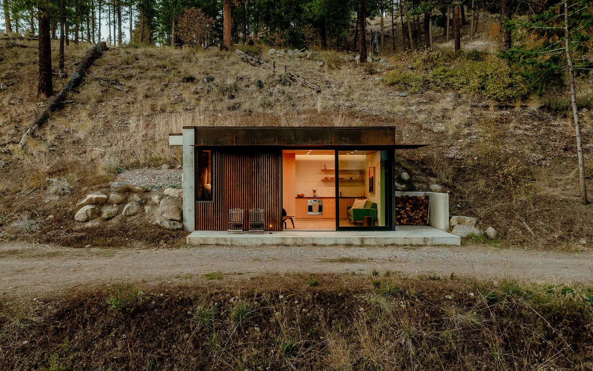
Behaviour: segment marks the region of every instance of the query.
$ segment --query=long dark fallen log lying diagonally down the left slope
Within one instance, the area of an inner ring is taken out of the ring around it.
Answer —
[[[43,123],[47,121],[49,115],[52,112],[58,109],[60,104],[62,104],[63,101],[66,99],[66,96],[68,95],[69,91],[71,91],[72,89],[77,87],[78,84],[81,83],[82,78],[84,77],[84,74],[87,71],[87,68],[93,64],[95,59],[103,55],[103,52],[108,49],[109,48],[107,48],[107,44],[105,42],[99,42],[88,50],[87,55],[80,62],[78,67],[76,67],[74,72],[72,72],[70,80],[68,80],[68,83],[64,85],[62,91],[60,91],[56,96],[49,100],[49,104],[47,104],[42,113],[39,116],[37,116],[37,119],[35,119],[31,126],[29,126],[27,130],[25,130],[23,137],[21,138],[21,141],[18,143],[19,149],[23,149],[23,147],[25,146],[25,142],[27,142],[27,138],[33,135],[36,129],[42,126]]]

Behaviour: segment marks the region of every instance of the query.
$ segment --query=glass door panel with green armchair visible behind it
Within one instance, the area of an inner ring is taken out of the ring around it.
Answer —
[[[391,230],[390,151],[336,151],[336,229]]]

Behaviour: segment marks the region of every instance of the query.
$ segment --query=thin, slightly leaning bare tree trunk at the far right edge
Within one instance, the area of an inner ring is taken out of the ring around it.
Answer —
[[[576,107],[575,73],[573,71],[572,56],[570,55],[570,34],[568,31],[568,4],[564,0],[564,32],[566,62],[568,62],[568,75],[570,78],[570,101],[572,103],[572,119],[575,122],[576,134],[576,157],[579,161],[579,186],[581,188],[581,202],[588,204],[587,185],[585,183],[585,160],[583,158],[583,146],[581,143],[581,124],[579,123],[579,112]]]

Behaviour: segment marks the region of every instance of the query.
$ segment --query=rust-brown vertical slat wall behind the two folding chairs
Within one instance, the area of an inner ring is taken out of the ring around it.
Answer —
[[[262,208],[266,231],[282,230],[282,151],[212,151],[213,202],[196,202],[196,230],[227,230],[228,210]],[[270,227],[271,225],[271,227]]]

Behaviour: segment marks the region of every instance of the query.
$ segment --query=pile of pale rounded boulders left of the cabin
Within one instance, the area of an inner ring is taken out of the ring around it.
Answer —
[[[109,194],[109,195],[108,195]],[[75,230],[98,227],[103,223],[132,221],[142,215],[150,223],[165,229],[183,228],[180,206],[183,189],[167,188],[146,190],[124,182],[113,182],[109,189],[94,191],[76,204]]]

